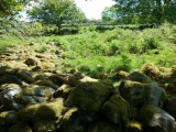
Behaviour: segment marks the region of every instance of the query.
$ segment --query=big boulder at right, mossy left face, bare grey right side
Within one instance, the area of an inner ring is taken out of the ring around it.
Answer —
[[[119,91],[134,107],[153,105],[162,108],[166,99],[164,89],[141,73],[132,73],[121,82]]]

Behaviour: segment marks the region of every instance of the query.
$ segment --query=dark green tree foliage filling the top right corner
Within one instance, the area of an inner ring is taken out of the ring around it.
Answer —
[[[109,10],[108,14],[114,18],[116,12],[117,19],[123,20],[124,23],[161,24],[164,21],[176,22],[176,0],[113,1],[116,1],[116,4],[112,9],[116,9],[116,11]]]

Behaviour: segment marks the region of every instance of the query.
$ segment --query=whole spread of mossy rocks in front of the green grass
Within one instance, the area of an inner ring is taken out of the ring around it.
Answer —
[[[113,86],[31,46],[0,53],[0,132],[176,132],[176,66],[119,72]]]

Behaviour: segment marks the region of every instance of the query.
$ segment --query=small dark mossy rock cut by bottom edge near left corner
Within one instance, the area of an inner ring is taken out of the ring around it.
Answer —
[[[9,132],[32,132],[26,122],[18,122],[9,129]]]

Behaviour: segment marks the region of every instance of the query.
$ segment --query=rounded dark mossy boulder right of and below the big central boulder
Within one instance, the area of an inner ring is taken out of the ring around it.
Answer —
[[[130,106],[120,95],[113,95],[102,107],[103,113],[114,124],[129,122],[135,114],[134,108]]]

